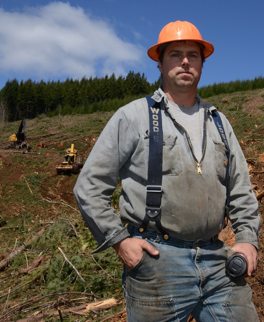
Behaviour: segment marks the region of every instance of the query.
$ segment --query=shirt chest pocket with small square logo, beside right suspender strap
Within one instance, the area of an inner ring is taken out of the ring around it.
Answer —
[[[214,141],[214,140],[213,140]],[[220,182],[225,182],[228,150],[223,142],[214,141],[215,171]]]

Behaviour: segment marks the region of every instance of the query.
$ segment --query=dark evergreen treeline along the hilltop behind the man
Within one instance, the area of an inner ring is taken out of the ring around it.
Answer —
[[[21,118],[35,118],[40,114],[48,116],[66,114],[90,114],[96,111],[112,111],[144,95],[149,95],[161,84],[150,84],[144,73],[130,71],[126,77],[117,79],[113,73],[110,77],[85,76],[79,80],[67,78],[58,81],[21,81],[8,80],[0,90],[0,123],[16,121]],[[264,88],[264,78],[254,80],[214,83],[198,89],[202,98],[232,93],[241,90]]]

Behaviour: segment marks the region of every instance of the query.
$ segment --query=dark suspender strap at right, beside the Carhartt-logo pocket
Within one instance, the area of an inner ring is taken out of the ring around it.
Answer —
[[[217,111],[214,111],[212,113],[212,117],[213,117],[213,120],[214,120],[214,123],[216,125],[216,128],[218,129],[218,132],[220,134],[220,137],[228,151],[228,156],[227,156],[227,171],[226,171],[226,180],[225,180],[225,186],[226,186],[226,201],[225,201],[225,218],[226,218],[226,223],[225,223],[225,226],[227,225],[228,223],[228,218],[229,218],[229,204],[230,204],[230,147],[228,145],[228,142],[227,142],[227,137],[225,135],[225,132],[224,132],[224,127],[223,127],[223,123],[222,123],[222,120],[221,120],[221,117],[219,115],[219,113]]]

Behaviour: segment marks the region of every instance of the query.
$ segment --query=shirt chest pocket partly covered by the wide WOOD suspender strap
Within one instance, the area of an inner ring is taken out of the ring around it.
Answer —
[[[145,137],[147,166],[149,163],[149,137]],[[182,163],[179,152],[178,137],[163,133],[162,175],[179,175],[182,172]]]

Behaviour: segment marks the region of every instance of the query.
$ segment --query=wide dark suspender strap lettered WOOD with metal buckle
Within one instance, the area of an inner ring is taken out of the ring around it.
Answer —
[[[148,183],[146,186],[146,214],[140,232],[147,229],[150,218],[154,218],[159,231],[164,239],[168,239],[168,234],[162,228],[160,222],[160,205],[162,196],[162,152],[163,152],[163,130],[160,104],[151,96],[146,96],[149,109],[150,138],[149,138],[149,163],[148,163]]]

